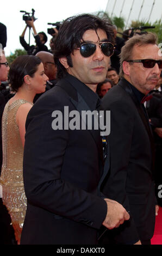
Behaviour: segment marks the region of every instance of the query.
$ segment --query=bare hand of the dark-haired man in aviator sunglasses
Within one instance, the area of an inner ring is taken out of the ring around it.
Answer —
[[[124,221],[128,221],[130,216],[126,209],[114,200],[105,198],[108,206],[107,216],[102,223],[108,229],[118,228]]]

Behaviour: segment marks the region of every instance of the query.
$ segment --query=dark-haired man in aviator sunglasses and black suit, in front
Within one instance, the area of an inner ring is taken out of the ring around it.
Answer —
[[[66,19],[59,29],[59,82],[35,102],[26,122],[21,244],[96,244],[102,224],[115,228],[129,219],[121,204],[99,192],[109,168],[107,157],[103,172],[99,130],[78,127],[86,124],[82,111],[99,106],[95,91],[107,74],[111,40],[109,23],[89,14]]]

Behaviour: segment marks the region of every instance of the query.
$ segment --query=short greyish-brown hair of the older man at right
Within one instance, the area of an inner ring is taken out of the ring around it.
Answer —
[[[120,53],[120,78],[123,77],[123,67],[122,64],[124,61],[128,61],[131,59],[132,51],[135,45],[142,46],[147,44],[157,45],[158,42],[158,36],[157,34],[154,34],[152,32],[149,32],[147,34],[142,35],[134,35],[132,38],[126,41],[125,45],[122,47],[121,53]]]

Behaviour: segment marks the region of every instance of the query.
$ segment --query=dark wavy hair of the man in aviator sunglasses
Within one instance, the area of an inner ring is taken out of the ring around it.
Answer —
[[[100,19],[91,14],[81,14],[66,19],[59,28],[59,33],[54,40],[54,62],[57,65],[58,78],[67,74],[67,70],[60,63],[59,58],[66,57],[68,65],[72,67],[70,54],[78,48],[83,40],[83,34],[89,29],[96,31],[102,29],[107,34],[108,40],[114,43],[113,26],[108,19]]]

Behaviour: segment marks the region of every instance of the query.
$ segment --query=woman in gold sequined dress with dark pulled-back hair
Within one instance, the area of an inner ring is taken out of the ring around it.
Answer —
[[[17,57],[11,65],[9,78],[16,94],[5,105],[2,117],[3,164],[0,182],[3,203],[11,216],[19,244],[27,205],[22,173],[25,123],[35,95],[45,92],[48,77],[38,57],[24,55]]]

